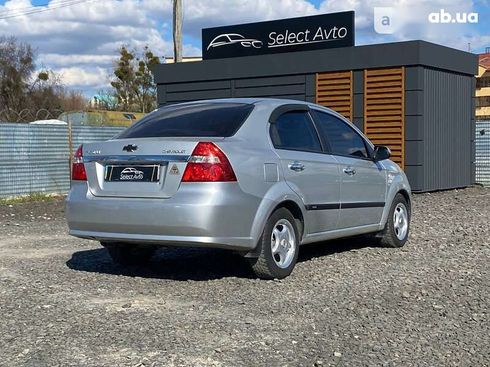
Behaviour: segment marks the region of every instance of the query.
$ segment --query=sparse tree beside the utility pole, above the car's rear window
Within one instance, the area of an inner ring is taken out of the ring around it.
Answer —
[[[117,97],[119,109],[132,112],[149,112],[156,106],[156,86],[152,69],[160,63],[148,46],[137,55],[126,46],[119,49],[111,85]]]

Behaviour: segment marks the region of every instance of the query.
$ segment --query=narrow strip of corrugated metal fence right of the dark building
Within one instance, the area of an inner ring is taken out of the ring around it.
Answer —
[[[490,186],[490,121],[476,122],[476,182]]]

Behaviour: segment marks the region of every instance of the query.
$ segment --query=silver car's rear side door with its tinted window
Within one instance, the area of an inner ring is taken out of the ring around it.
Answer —
[[[285,180],[305,205],[307,233],[335,229],[340,201],[338,165],[323,152],[309,112],[284,112],[271,123],[270,134]]]

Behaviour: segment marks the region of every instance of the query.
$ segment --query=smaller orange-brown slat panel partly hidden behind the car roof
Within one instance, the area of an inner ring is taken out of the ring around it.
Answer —
[[[352,71],[317,73],[316,103],[352,120]]]

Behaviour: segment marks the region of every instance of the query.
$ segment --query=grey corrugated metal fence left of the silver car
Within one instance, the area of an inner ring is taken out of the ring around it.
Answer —
[[[73,126],[72,149],[108,140],[124,128]],[[67,126],[0,124],[0,197],[66,193],[70,188]]]

